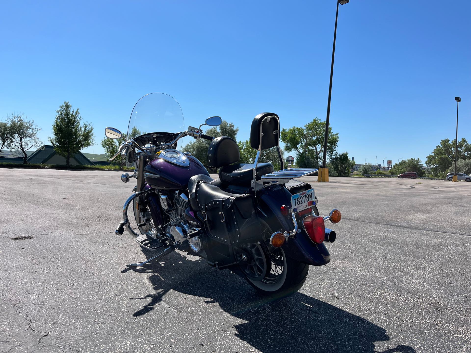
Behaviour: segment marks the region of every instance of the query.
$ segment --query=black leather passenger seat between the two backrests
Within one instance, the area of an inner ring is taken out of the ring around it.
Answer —
[[[219,169],[219,179],[229,185],[249,186],[253,178],[253,168],[255,164],[231,164]],[[257,180],[260,176],[272,173],[271,163],[259,163],[257,165]]]

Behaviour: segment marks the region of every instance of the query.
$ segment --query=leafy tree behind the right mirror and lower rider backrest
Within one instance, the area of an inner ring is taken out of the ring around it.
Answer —
[[[222,120],[221,125],[219,125],[219,127],[212,126],[211,128],[208,128],[204,132],[204,134],[212,137],[229,136],[235,140],[235,136],[237,136],[238,132],[239,128],[235,128],[232,122]],[[208,167],[208,149],[210,143],[211,141],[200,138],[199,140],[195,140],[186,144],[182,148],[182,151],[190,152],[196,159],[203,163],[206,168],[210,169],[211,171],[214,171],[213,168]]]

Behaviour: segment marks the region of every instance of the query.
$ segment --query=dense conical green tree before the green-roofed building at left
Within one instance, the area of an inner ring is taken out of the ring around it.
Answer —
[[[81,123],[79,108],[72,110],[69,102],[64,102],[57,109],[56,120],[52,124],[52,135],[49,142],[57,154],[65,158],[65,165],[70,165],[70,159],[83,148],[95,142],[91,123]]]

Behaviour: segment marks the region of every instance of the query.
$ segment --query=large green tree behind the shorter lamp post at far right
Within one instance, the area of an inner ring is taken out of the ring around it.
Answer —
[[[441,140],[440,144],[427,156],[425,164],[433,167],[434,175],[446,173],[448,168],[455,165],[455,141],[456,139],[450,141],[448,138]],[[458,141],[456,157],[457,160],[471,159],[471,144],[465,138]]]

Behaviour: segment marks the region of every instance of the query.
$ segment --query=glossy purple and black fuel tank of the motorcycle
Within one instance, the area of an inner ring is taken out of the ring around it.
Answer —
[[[147,185],[154,189],[180,190],[188,187],[188,180],[192,176],[198,174],[209,176],[199,160],[193,156],[187,157],[190,161],[188,167],[181,167],[161,158],[152,160],[144,168]]]

